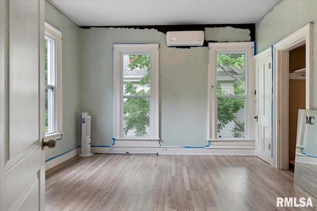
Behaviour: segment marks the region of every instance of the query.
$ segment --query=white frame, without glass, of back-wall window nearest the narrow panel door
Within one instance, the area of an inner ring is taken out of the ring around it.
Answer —
[[[245,138],[217,137],[217,54],[246,54],[246,104],[245,104]],[[255,100],[255,60],[254,42],[216,42],[209,43],[208,63],[208,140],[209,141],[254,141],[254,100]]]

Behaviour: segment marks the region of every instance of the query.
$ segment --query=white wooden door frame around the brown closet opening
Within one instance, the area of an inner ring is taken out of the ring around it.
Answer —
[[[313,24],[273,45],[273,164],[288,169],[289,51],[306,43],[306,109],[313,108]]]

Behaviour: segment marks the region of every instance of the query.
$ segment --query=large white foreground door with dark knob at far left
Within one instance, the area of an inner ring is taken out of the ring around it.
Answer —
[[[44,1],[0,0],[0,210],[45,210]]]

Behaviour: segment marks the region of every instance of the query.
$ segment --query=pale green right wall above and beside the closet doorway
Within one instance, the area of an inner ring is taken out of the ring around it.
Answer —
[[[314,72],[317,71],[317,0],[284,0],[279,2],[256,25],[257,52],[282,40],[304,25],[314,22]],[[314,74],[314,109],[317,109],[317,74]]]

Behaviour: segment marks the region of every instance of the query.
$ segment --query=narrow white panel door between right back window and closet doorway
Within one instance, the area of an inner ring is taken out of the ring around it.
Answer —
[[[255,154],[272,165],[272,68],[271,49],[256,58],[256,151]]]

